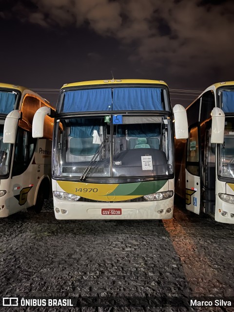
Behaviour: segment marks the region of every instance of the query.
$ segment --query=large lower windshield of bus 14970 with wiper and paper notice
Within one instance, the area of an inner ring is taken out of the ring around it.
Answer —
[[[108,115],[60,118],[53,174],[137,177],[173,174],[169,117]]]

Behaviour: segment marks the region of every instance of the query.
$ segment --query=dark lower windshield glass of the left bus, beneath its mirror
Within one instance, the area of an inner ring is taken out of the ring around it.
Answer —
[[[3,127],[4,124],[0,124],[0,176],[7,176],[10,172],[10,148],[12,144],[3,143]]]

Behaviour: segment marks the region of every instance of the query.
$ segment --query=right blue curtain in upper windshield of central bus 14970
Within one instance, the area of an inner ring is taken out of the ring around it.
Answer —
[[[113,91],[113,111],[163,110],[161,89],[116,88]]]

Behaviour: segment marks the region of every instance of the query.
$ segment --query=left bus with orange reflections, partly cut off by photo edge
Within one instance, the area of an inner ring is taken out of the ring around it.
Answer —
[[[53,119],[45,136],[32,137],[34,113],[53,107],[27,88],[0,83],[0,217],[24,208],[39,213],[51,185]]]

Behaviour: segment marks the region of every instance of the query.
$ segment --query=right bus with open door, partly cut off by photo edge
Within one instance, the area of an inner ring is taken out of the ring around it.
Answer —
[[[176,140],[176,193],[186,196],[188,210],[234,223],[234,81],[208,87],[186,111],[189,138]]]

